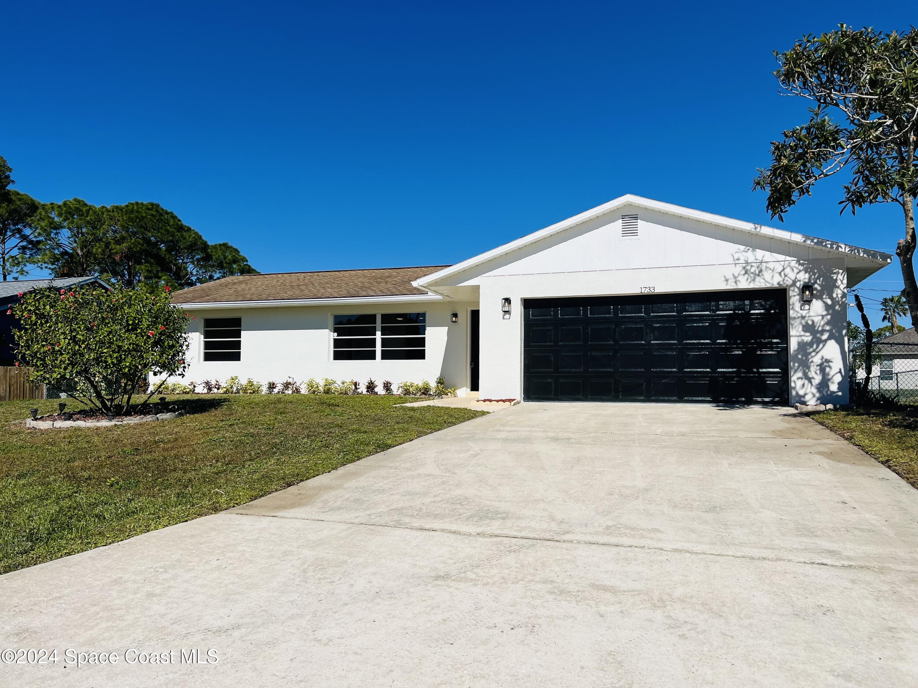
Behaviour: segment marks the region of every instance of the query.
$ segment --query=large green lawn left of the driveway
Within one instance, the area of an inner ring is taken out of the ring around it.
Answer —
[[[213,514],[484,414],[397,408],[397,396],[171,399],[200,412],[27,430],[28,408],[57,402],[0,403],[0,573]]]

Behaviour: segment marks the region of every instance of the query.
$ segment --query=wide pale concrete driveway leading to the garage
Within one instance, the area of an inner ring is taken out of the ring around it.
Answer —
[[[918,492],[789,409],[524,404],[2,576],[0,638],[58,649],[7,685],[915,685]]]

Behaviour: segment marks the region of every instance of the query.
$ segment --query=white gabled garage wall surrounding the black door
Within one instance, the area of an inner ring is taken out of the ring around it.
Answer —
[[[630,212],[640,216],[637,239],[621,238],[621,214]],[[479,286],[482,398],[522,396],[523,299],[785,287],[790,403],[847,402],[845,259],[828,250],[625,208],[468,272],[451,282]],[[809,310],[800,307],[804,283],[814,286]]]

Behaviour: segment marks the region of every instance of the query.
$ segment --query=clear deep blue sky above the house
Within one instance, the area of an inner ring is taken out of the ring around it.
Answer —
[[[156,201],[262,272],[461,261],[626,193],[782,226],[750,187],[805,105],[771,50],[914,17],[753,5],[18,3],[0,155],[42,201]],[[901,209],[839,216],[839,186],[783,227],[894,250]]]

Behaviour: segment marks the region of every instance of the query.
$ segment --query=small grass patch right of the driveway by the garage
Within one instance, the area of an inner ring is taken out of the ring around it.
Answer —
[[[918,409],[864,408],[811,417],[918,488]]]

